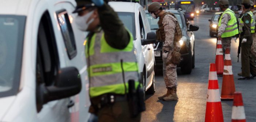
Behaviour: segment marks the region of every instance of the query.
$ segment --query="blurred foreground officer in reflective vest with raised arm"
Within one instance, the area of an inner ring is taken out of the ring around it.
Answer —
[[[92,1],[76,0],[73,12],[78,13],[78,28],[90,32],[85,51],[90,81],[89,112],[97,115],[99,122],[139,122],[140,112],[135,111],[138,114],[131,118],[127,101],[128,80],[135,81],[135,89],[139,86],[133,37],[108,4],[103,0]],[[135,95],[138,99],[139,95]]]

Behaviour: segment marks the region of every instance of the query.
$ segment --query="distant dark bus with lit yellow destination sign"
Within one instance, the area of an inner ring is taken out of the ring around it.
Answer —
[[[176,0],[175,10],[179,8],[185,13],[187,19],[194,20],[195,18],[195,4],[193,0]]]

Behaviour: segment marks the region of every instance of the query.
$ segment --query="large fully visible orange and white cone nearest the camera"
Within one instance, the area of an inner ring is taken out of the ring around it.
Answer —
[[[223,122],[221,98],[215,64],[210,64],[205,122]]]

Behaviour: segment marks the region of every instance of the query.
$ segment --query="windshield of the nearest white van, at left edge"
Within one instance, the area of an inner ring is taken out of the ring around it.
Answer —
[[[0,97],[19,88],[25,16],[0,15]]]

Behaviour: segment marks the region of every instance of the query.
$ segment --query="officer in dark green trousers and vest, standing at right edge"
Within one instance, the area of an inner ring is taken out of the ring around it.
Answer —
[[[250,62],[251,46],[253,42],[252,34],[255,33],[255,19],[253,13],[250,11],[250,0],[242,0],[243,16],[239,22],[239,32],[242,38],[241,44],[241,63],[242,63],[242,77],[238,80],[248,80],[255,77],[256,65],[255,62]]]

